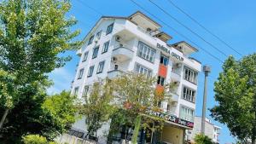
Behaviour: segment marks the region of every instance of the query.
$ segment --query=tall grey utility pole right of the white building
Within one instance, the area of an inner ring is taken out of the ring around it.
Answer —
[[[202,117],[201,117],[201,134],[205,135],[206,111],[207,111],[207,78],[208,78],[209,72],[211,72],[211,67],[203,66],[203,71],[205,72],[205,85],[204,85],[204,97],[203,97],[203,107],[202,107]]]

